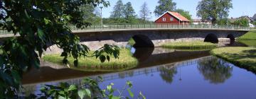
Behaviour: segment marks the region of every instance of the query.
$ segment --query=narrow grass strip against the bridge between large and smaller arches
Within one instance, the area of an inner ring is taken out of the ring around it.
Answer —
[[[169,42],[162,45],[164,48],[171,49],[212,49],[217,45],[210,42],[192,41],[192,42]]]

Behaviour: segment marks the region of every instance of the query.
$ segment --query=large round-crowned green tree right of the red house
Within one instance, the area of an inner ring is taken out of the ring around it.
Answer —
[[[217,23],[219,19],[227,18],[232,6],[232,0],[202,0],[196,7],[197,16],[203,20]]]

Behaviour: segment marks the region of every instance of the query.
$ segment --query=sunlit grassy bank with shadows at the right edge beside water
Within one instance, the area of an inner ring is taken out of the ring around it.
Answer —
[[[222,47],[214,49],[211,54],[228,62],[256,73],[256,48],[253,47]]]

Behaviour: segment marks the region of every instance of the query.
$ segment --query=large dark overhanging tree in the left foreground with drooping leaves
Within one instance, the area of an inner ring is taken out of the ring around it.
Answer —
[[[89,48],[80,45],[80,38],[73,34],[68,25],[84,28],[91,25],[84,21],[80,7],[86,4],[109,5],[102,0],[15,0],[0,1],[0,27],[8,30],[16,37],[4,40],[0,49],[0,96],[1,98],[17,98],[21,88],[23,72],[32,67],[40,67],[40,57],[48,45],[58,45],[63,52],[63,63],[68,64],[68,57],[73,57],[78,66],[78,57],[87,57]],[[105,45],[94,55],[104,62],[107,55],[118,57],[119,48]]]

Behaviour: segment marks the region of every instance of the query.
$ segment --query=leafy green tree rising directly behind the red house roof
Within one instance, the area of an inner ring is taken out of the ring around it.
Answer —
[[[154,11],[156,16],[161,16],[166,11],[175,11],[176,3],[172,0],[159,0],[159,6],[156,6]]]

